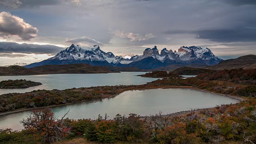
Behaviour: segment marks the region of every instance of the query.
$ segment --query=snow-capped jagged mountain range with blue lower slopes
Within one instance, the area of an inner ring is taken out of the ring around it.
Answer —
[[[80,46],[72,44],[56,56],[41,62],[26,65],[26,68],[49,64],[79,64],[86,63],[92,66],[136,67],[140,69],[153,69],[171,64],[205,64],[214,65],[222,59],[215,56],[209,48],[200,46],[182,46],[178,52],[162,49],[160,54],[156,46],[146,48],[143,55],[135,55],[130,59],[115,56],[112,52],[104,52],[100,46]]]

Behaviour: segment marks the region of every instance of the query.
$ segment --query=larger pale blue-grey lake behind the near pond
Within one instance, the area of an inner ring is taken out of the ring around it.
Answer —
[[[131,84],[146,84],[158,78],[144,78],[136,75],[146,72],[121,72],[109,74],[45,74],[30,76],[0,76],[2,80],[26,79],[34,82],[41,82],[40,86],[32,86],[23,89],[0,89],[0,94],[13,92],[31,92],[33,90],[65,90],[68,88],[81,88],[91,86],[116,86]]]

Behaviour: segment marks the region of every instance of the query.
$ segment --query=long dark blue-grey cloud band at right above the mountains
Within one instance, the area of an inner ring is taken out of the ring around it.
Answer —
[[[256,42],[256,29],[236,28],[218,30],[172,30],[164,34],[194,34],[196,38],[213,42]]]

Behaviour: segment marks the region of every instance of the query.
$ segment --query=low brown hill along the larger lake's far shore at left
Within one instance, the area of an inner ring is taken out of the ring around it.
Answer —
[[[0,67],[0,76],[8,75],[36,75],[36,74],[98,74],[114,73],[118,70],[110,70],[102,66],[90,66],[89,64],[64,64],[64,65],[44,65],[34,68],[23,66]]]

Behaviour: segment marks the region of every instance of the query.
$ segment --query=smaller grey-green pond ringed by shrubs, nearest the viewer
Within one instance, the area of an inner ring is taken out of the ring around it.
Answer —
[[[220,104],[236,102],[237,100],[217,94],[183,88],[170,88],[126,91],[110,99],[58,106],[52,109],[60,118],[70,109],[67,115],[69,118],[94,119],[98,117],[98,114],[104,116],[105,113],[110,118],[113,118],[116,114],[127,116],[130,113],[146,116],[156,114],[159,111],[168,114],[195,108],[211,108]],[[21,130],[23,127],[19,121],[25,118],[28,112],[0,116],[0,129],[12,128],[13,130]]]

